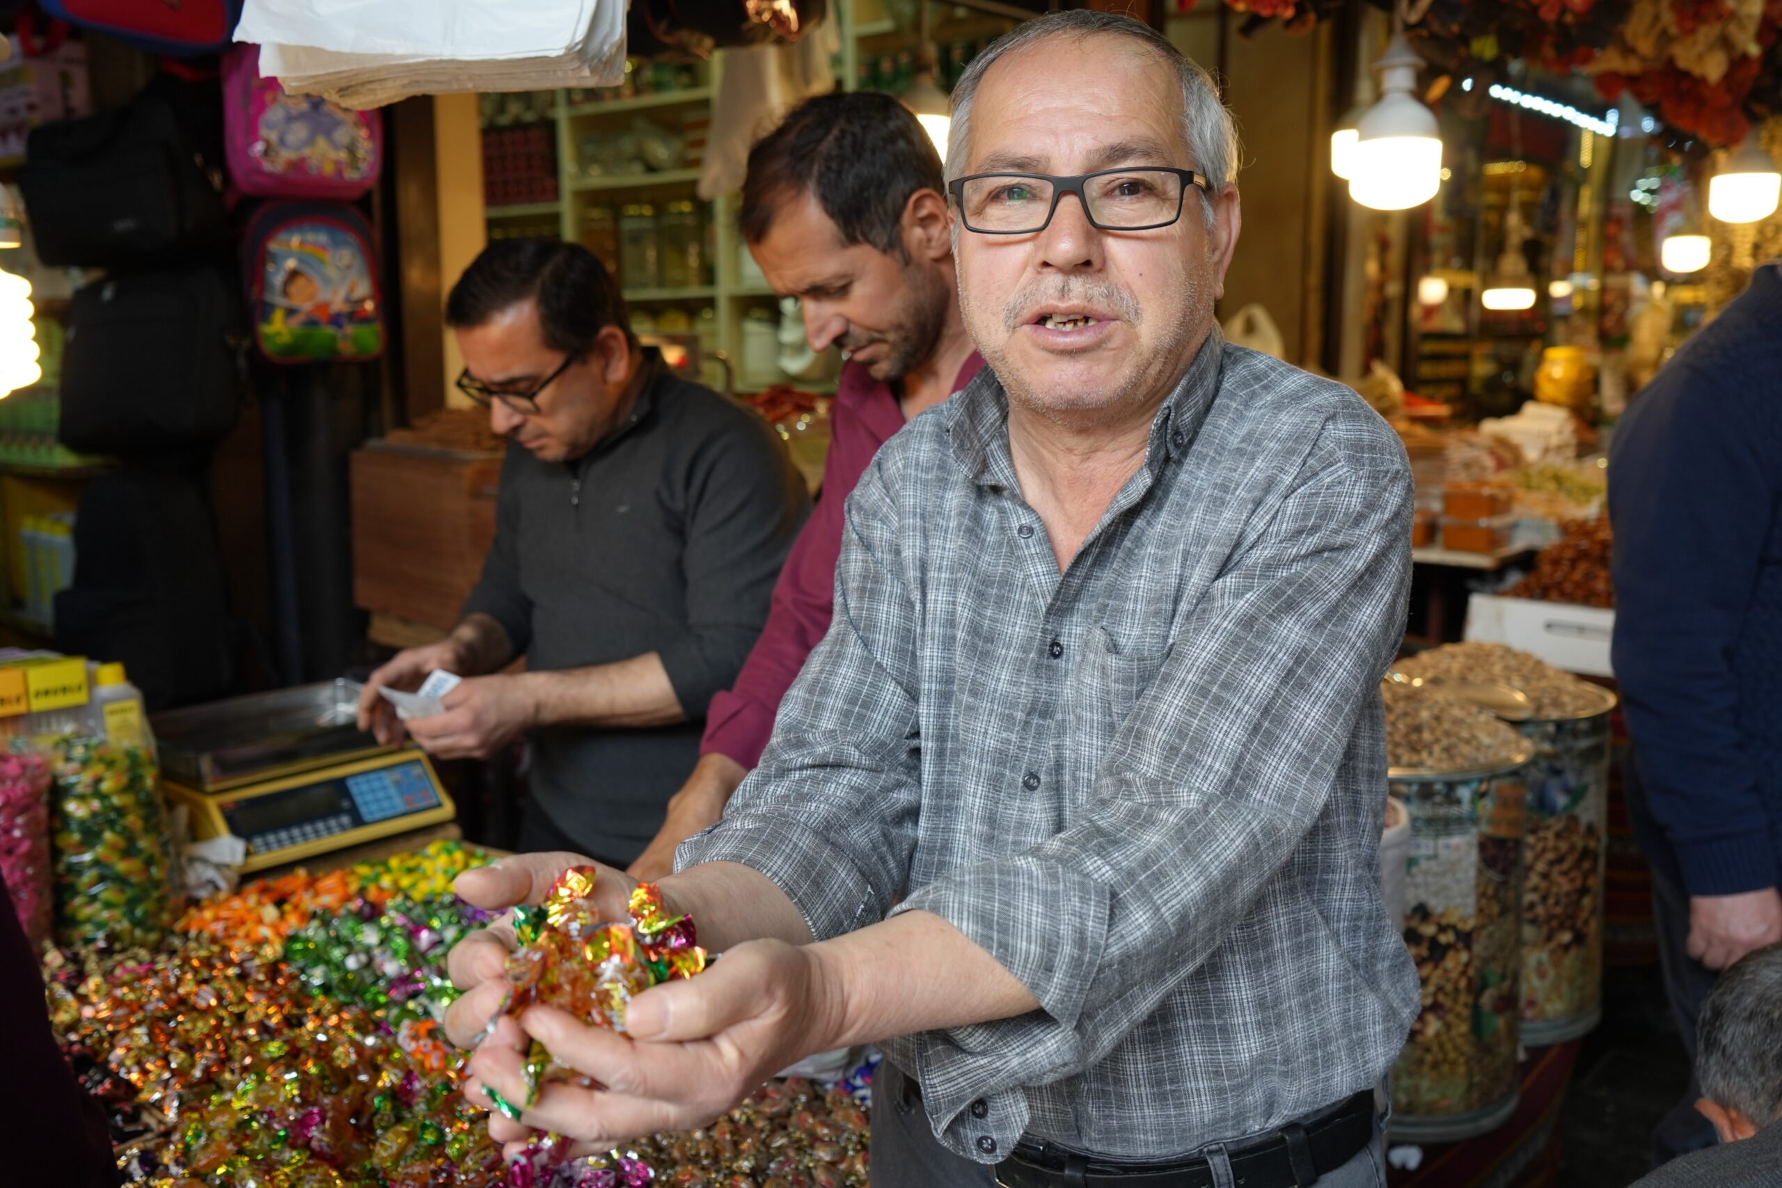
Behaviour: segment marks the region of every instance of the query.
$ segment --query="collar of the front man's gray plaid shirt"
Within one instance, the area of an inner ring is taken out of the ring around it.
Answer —
[[[1224,333],[1219,322],[1206,331],[1189,370],[1151,419],[1146,468],[1155,477],[1171,458],[1194,445],[1206,413],[1219,394],[1224,369]],[[996,372],[985,367],[948,408],[946,431],[952,435],[953,460],[980,486],[1014,486],[1014,461],[1009,456],[1009,394]]]

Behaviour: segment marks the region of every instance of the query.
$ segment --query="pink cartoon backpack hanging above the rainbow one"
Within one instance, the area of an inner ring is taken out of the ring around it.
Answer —
[[[383,166],[383,119],[314,94],[285,94],[260,77],[260,46],[223,59],[228,173],[242,194],[358,198]]]

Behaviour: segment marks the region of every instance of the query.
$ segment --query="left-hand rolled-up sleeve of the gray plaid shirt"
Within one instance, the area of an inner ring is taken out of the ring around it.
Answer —
[[[675,855],[679,869],[761,871],[818,940],[884,919],[921,801],[918,613],[880,465],[882,454],[846,500],[834,622],[786,695],[773,741],[723,821]]]

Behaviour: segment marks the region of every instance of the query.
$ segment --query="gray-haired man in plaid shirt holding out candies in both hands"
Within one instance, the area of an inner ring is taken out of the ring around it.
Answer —
[[[1237,135],[1148,27],[1019,27],[955,87],[946,160],[989,367],[868,467],[834,625],[659,885],[723,958],[625,1035],[531,1008],[479,1037],[506,933],[465,940],[467,1094],[508,1103],[497,1138],[602,1147],[877,1040],[879,1188],[1385,1184],[1418,1010],[1377,875],[1404,451],[1221,338]],[[625,891],[601,873],[602,910]],[[527,1035],[590,1079],[527,1101]]]

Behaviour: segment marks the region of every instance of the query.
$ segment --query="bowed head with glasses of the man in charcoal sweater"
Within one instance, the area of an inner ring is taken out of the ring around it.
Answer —
[[[458,388],[488,424],[544,461],[576,461],[618,424],[638,344],[618,281],[579,244],[506,239],[485,248],[446,299]]]

